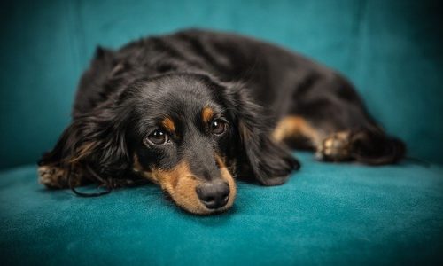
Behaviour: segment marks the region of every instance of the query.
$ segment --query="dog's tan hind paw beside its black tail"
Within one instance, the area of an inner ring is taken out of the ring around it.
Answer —
[[[315,158],[324,161],[351,160],[351,142],[349,132],[338,132],[326,137],[317,147]]]

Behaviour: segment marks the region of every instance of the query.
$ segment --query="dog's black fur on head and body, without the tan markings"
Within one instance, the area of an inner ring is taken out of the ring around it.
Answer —
[[[203,106],[228,121],[223,137],[207,137],[206,125],[198,124]],[[233,175],[282,184],[299,162],[271,132],[290,114],[326,134],[349,130],[354,160],[385,164],[404,154],[400,140],[385,135],[352,85],[329,68],[244,36],[187,30],[119,51],[97,48],[82,75],[73,122],[39,164],[124,185],[137,178],[134,154],[146,168],[173,168],[189,158],[193,172],[211,176],[216,152],[237,168]],[[182,121],[177,127],[187,133],[171,136],[174,145],[145,145],[165,115]]]

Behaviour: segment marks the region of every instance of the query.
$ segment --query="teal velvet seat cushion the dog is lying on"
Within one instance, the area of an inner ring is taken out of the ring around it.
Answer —
[[[227,213],[184,213],[151,184],[98,198],[0,174],[2,261],[25,264],[443,262],[443,168],[303,163],[287,184],[238,182]]]

